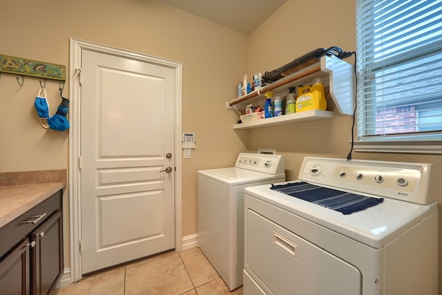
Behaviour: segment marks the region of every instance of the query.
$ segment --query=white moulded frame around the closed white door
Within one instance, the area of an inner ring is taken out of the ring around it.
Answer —
[[[175,249],[182,248],[182,64],[176,61],[160,59],[128,50],[95,44],[80,39],[70,38],[69,70],[69,231],[70,231],[70,283],[81,279],[81,254],[79,237],[81,237],[81,192],[79,171],[80,146],[80,97],[81,94],[81,50],[88,49],[108,55],[116,55],[139,61],[166,66],[175,69]],[[65,278],[65,283],[69,282]]]

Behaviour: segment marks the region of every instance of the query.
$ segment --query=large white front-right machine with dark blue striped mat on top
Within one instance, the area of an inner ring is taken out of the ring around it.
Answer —
[[[431,170],[306,157],[298,180],[248,187],[244,294],[436,295]],[[357,211],[358,202],[372,207]]]

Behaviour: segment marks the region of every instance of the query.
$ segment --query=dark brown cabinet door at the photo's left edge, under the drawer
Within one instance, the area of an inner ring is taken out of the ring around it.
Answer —
[[[30,242],[27,238],[0,262],[0,293],[29,295]]]

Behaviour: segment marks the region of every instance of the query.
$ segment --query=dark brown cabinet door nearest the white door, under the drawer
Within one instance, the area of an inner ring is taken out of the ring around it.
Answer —
[[[63,271],[61,211],[32,232],[32,294],[48,294]]]

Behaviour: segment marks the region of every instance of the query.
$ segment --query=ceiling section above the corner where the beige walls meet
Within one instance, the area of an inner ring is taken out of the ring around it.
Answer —
[[[159,0],[250,35],[287,0]]]

